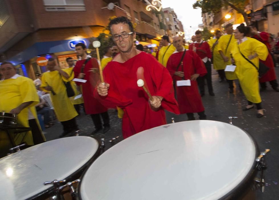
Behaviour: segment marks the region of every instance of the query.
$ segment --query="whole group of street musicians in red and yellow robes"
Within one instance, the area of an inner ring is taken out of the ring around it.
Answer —
[[[136,33],[126,17],[111,20],[109,28],[115,45],[105,49],[101,61],[87,55],[86,46],[78,43],[75,48],[79,60],[76,63],[68,57],[69,68],[61,69],[51,57],[47,63],[48,71],[39,74],[34,82],[17,75],[12,63],[1,64],[0,96],[4,100],[0,102],[0,110],[18,114],[19,123],[32,128],[24,139],[25,143],[34,145],[45,141],[37,114],[44,116],[45,127],[53,125],[49,117],[51,111],[42,99],[45,94],[50,96],[55,116],[63,126],[60,137],[79,131],[76,116],[81,108],[92,118],[95,126],[92,134],[106,133],[111,123],[107,110],[113,108],[122,118],[125,139],[166,124],[164,110],[186,113],[186,120],[195,120],[194,113],[197,113],[199,119],[205,120],[202,103],[205,80],[209,95],[215,96],[212,65],[218,71],[219,82],[227,81],[230,93],[234,92],[234,80],[238,79],[247,99],[243,110],[249,110],[255,104],[258,118],[264,116],[259,85],[264,91],[266,82],[270,82],[279,92],[272,49],[278,46],[278,42],[274,47],[270,45],[270,35],[258,32],[254,25],[245,27],[242,24],[233,30],[232,24],[227,24],[224,35],[222,31],[216,31],[208,42],[203,41],[202,32],[198,30],[190,45],[179,36],[173,37],[171,42],[164,35],[156,52],[148,46],[135,45]],[[268,71],[259,78],[260,63],[268,67]],[[100,82],[99,65],[104,83]],[[231,70],[231,66],[236,67]],[[139,78],[144,81],[150,96],[138,87]],[[71,88],[74,94],[68,91]],[[0,143],[3,145],[2,138]]]

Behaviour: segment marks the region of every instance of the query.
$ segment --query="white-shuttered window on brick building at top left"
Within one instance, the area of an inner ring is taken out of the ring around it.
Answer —
[[[86,11],[84,0],[43,0],[46,11]]]

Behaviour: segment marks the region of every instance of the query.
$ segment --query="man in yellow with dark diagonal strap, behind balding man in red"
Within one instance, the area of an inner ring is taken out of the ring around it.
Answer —
[[[174,45],[170,44],[170,39],[167,35],[162,37],[161,43],[162,48],[159,51],[158,61],[166,67],[169,57],[176,51],[176,48]]]

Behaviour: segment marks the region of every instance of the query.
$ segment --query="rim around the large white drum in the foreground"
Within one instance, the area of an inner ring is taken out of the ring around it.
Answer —
[[[196,120],[196,121],[200,121],[200,120]],[[215,121],[215,120],[207,120],[207,121]],[[183,121],[183,122],[186,122],[186,121]],[[223,122],[223,121],[215,121],[215,122],[226,123],[226,122]],[[178,123],[181,123],[181,122],[178,122]],[[226,123],[226,124],[228,124],[228,123]],[[161,125],[161,126],[165,126],[165,125]],[[221,199],[232,199],[232,198],[237,198],[237,197],[240,197],[241,195],[243,195],[243,192],[246,191],[246,189],[251,185],[251,181],[253,181],[253,179],[254,179],[254,177],[255,177],[255,175],[257,173],[257,170],[256,170],[256,165],[257,165],[256,158],[259,155],[258,144],[254,140],[252,135],[250,135],[247,131],[243,130],[242,128],[240,128],[240,127],[238,127],[236,125],[232,125],[232,126],[241,129],[243,132],[245,132],[249,136],[249,138],[251,139],[251,141],[253,142],[253,144],[255,146],[255,159],[254,159],[253,165],[251,166],[251,169],[249,170],[249,173],[245,176],[245,178],[235,188],[233,188],[229,193],[227,193],[223,197],[219,198],[218,200],[221,200]],[[160,127],[160,126],[158,126],[158,127]],[[157,127],[154,127],[154,128],[157,128]],[[151,129],[154,129],[154,128],[151,128]],[[148,129],[148,130],[151,130],[151,129]],[[144,132],[144,131],[142,131],[142,132]],[[133,137],[133,136],[131,136],[131,137]],[[122,141],[124,141],[124,140],[122,140]],[[119,143],[121,143],[121,142],[119,142]],[[116,145],[118,145],[119,143],[117,143]],[[93,164],[93,162],[92,162],[92,164]],[[84,180],[84,176],[85,176],[86,172],[88,171],[89,167],[82,173],[82,176],[80,177],[80,182],[79,182],[79,185],[78,185],[78,198],[80,200],[83,199],[82,196],[81,196],[81,192],[80,192],[81,191],[82,181]]]

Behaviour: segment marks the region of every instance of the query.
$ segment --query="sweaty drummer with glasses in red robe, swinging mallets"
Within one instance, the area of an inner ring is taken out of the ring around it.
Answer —
[[[105,84],[99,83],[95,97],[106,107],[124,110],[123,138],[166,124],[164,109],[179,114],[174,98],[172,77],[168,70],[145,52],[133,48],[136,33],[127,17],[117,17],[109,27],[120,53],[103,71]],[[149,88],[151,101],[137,85],[137,70],[144,69],[144,86]]]

